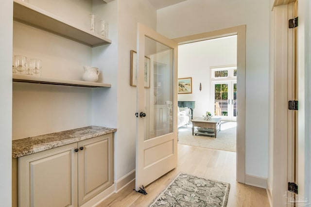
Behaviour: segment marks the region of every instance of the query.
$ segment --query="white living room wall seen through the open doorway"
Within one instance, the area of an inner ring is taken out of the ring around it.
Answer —
[[[178,101],[195,101],[193,116],[214,111],[210,67],[233,64],[237,64],[237,36],[178,46],[178,78],[192,78],[192,94],[178,94]]]

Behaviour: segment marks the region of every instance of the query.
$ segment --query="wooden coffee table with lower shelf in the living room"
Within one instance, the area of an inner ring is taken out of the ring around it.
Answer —
[[[222,118],[211,118],[206,120],[203,117],[197,117],[191,120],[192,122],[192,135],[203,134],[208,136],[217,136],[217,132],[220,131]],[[194,127],[196,131],[194,132]]]

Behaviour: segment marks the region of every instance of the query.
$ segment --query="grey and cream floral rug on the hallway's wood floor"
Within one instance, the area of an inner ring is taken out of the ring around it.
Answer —
[[[226,207],[230,184],[179,173],[149,207]]]

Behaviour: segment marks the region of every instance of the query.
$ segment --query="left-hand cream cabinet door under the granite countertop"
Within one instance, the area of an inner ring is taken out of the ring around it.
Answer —
[[[18,158],[19,207],[77,206],[77,143]]]

